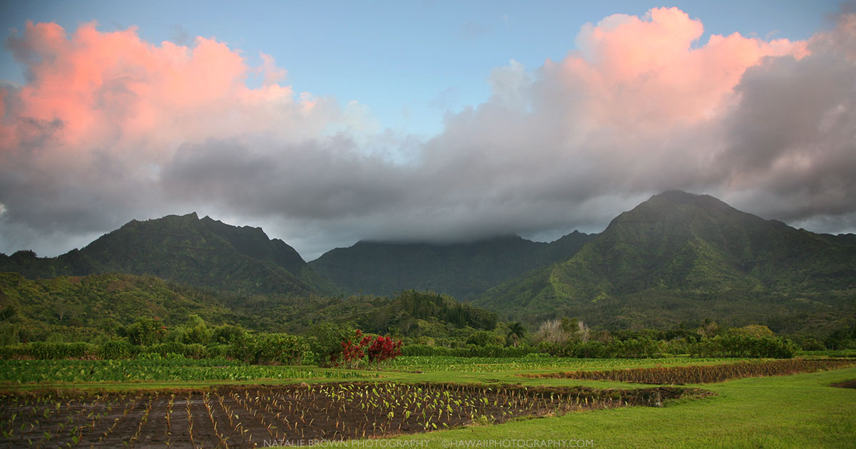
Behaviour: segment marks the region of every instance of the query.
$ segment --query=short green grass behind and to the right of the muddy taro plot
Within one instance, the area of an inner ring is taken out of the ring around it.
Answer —
[[[470,362],[470,363],[467,363]],[[366,372],[368,381],[457,382],[499,387],[520,384],[527,387],[645,388],[644,384],[615,381],[524,378],[520,374],[579,369],[646,368],[687,364],[733,363],[729,359],[455,359],[453,357],[401,357],[380,371]],[[14,363],[3,365],[15,370]],[[33,361],[30,361],[32,363]],[[58,361],[70,363],[72,361]],[[74,361],[75,363],[93,363]],[[48,362],[45,363],[56,363]],[[203,363],[204,364],[204,363]],[[76,365],[75,365],[76,366]],[[40,369],[50,369],[41,366]],[[205,373],[216,373],[211,367]],[[217,368],[217,367],[214,367]],[[203,380],[173,380],[156,377],[146,381],[48,381],[18,383],[5,381],[0,389],[9,392],[50,388],[56,391],[113,391],[147,389],[169,392],[187,388],[208,388],[214,384],[267,385],[328,381],[358,381],[353,372],[300,367],[245,367],[263,369],[259,377],[244,375],[240,381],[217,380],[216,374]],[[75,368],[76,369],[76,368]],[[241,369],[240,366],[223,369]],[[287,377],[270,371],[288,371]],[[157,370],[157,369],[156,369]],[[165,371],[169,372],[169,371]],[[250,371],[247,371],[250,372]],[[309,375],[308,373],[312,373]],[[323,374],[322,374],[323,373]],[[9,376],[8,374],[6,375]],[[571,411],[546,417],[521,418],[425,434],[406,434],[383,440],[349,440],[343,447],[854,447],[856,446],[856,389],[831,384],[856,379],[856,368],[832,369],[809,374],[750,377],[687,385],[714,393],[702,399],[666,400],[663,407],[631,406],[603,410]],[[18,394],[18,393],[15,393]],[[5,419],[6,417],[4,417]],[[308,443],[309,441],[304,441]],[[325,446],[332,443],[326,442]],[[3,443],[0,443],[3,446]],[[9,446],[13,447],[13,446]],[[26,446],[24,446],[26,447]]]

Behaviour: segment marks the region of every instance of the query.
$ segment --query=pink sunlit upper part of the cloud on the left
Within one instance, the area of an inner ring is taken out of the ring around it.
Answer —
[[[91,23],[69,37],[54,23],[28,22],[9,45],[28,81],[14,92],[3,88],[0,95],[16,98],[4,114],[61,123],[53,138],[63,151],[109,146],[119,153],[142,145],[158,162],[176,145],[205,139],[247,133],[312,139],[340,118],[335,104],[312,108],[295,99],[290,86],[280,86],[285,71],[272,57],[263,54],[262,67],[251,68],[238,50],[213,38],[196,38],[193,47],[153,45],[133,27],[99,32]],[[247,87],[257,70],[264,86]],[[23,137],[21,125],[5,133],[13,137],[3,151],[12,151]]]

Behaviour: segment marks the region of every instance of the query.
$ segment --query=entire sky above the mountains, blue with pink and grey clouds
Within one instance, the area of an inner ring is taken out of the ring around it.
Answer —
[[[192,211],[306,260],[550,240],[669,189],[856,232],[852,12],[2,0],[0,251]]]

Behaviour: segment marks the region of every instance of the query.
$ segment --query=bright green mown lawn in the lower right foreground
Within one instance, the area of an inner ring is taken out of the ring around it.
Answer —
[[[852,379],[856,379],[856,368],[746,378],[698,385],[716,397],[663,408],[586,411],[407,435],[399,440],[426,440],[430,447],[451,447],[450,441],[458,440],[471,445],[494,441],[496,445],[519,439],[542,446],[551,441],[556,446],[562,440],[582,440],[571,444],[583,447],[587,441],[593,442],[587,447],[856,447],[856,389],[829,387]],[[600,381],[539,379],[524,383],[630,387]]]

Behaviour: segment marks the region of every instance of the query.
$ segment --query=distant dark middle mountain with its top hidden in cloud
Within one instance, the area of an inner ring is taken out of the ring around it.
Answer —
[[[360,241],[309,263],[346,292],[389,296],[415,289],[470,298],[532,269],[571,257],[589,239],[570,233],[550,244],[509,236],[467,244]]]

